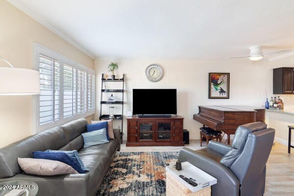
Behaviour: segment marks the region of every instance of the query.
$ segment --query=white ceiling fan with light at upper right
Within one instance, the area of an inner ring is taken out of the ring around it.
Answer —
[[[262,46],[252,46],[249,48],[250,53],[249,56],[240,56],[240,57],[230,57],[230,58],[249,58],[251,61],[258,61],[264,57],[264,55],[276,55],[276,54],[284,54],[287,52],[291,52],[292,49],[278,50],[272,52],[262,52]]]

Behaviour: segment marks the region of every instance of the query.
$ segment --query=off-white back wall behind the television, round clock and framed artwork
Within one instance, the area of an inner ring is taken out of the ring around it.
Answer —
[[[124,115],[132,110],[133,88],[176,88],[177,113],[184,117],[184,128],[190,132],[190,139],[199,139],[200,123],[193,120],[198,113],[198,105],[264,105],[266,97],[272,92],[272,70],[264,61],[250,62],[248,59],[225,60],[181,60],[181,59],[96,59],[97,111],[99,118],[99,100],[101,73],[107,73],[110,62],[116,62],[118,77],[125,73]],[[163,78],[158,82],[149,82],[145,76],[148,65],[156,63],[164,70]],[[230,73],[230,98],[208,98],[208,73]],[[110,87],[109,87],[110,88]],[[104,112],[108,112],[105,110]],[[123,125],[123,140],[126,140],[126,120]]]

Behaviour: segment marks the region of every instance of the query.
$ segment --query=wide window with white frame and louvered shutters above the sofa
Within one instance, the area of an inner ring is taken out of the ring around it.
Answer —
[[[94,70],[36,45],[40,96],[36,128],[42,131],[95,113]]]

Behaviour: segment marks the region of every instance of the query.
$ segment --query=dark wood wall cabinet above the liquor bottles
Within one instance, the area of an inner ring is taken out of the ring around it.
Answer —
[[[294,94],[294,68],[273,69],[273,94]]]

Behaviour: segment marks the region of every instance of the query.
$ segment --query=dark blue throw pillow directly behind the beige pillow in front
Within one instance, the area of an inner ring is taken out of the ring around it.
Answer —
[[[86,173],[81,166],[79,165],[78,161],[76,159],[71,158],[67,153],[65,152],[46,152],[46,151],[35,151],[33,152],[33,156],[36,159],[49,159],[53,161],[60,161],[65,164],[68,164],[73,167],[76,172],[79,173]]]

